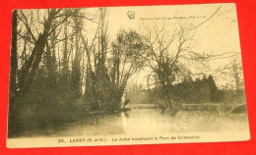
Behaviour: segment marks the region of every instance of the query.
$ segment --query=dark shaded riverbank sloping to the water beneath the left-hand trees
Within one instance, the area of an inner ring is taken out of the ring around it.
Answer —
[[[130,111],[130,108],[120,108],[114,112],[109,111],[88,111],[86,106],[79,104],[52,105],[51,107],[24,107],[27,113],[19,114],[19,122],[16,124],[16,130],[10,132],[8,137],[19,137],[25,132],[37,129],[55,129],[65,124],[72,124],[81,120],[97,116],[108,116],[122,112]]]

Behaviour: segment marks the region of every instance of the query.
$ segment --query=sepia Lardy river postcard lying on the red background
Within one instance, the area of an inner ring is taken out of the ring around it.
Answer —
[[[250,139],[235,4],[12,18],[7,147]]]

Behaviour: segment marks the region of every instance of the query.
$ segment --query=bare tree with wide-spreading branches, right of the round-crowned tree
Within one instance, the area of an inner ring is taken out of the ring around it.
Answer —
[[[160,86],[163,100],[172,108],[170,87],[183,70],[182,60],[194,58],[198,54],[190,49],[195,30],[187,30],[186,25],[179,26],[169,33],[164,25],[150,28],[145,26],[144,39],[150,50],[144,59],[152,69],[156,85]]]

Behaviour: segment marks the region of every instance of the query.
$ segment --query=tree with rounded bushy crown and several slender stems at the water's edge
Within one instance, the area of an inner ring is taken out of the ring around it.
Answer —
[[[117,103],[121,101],[128,79],[144,67],[146,61],[142,56],[147,50],[148,46],[136,31],[121,30],[117,34],[109,60],[111,87]]]

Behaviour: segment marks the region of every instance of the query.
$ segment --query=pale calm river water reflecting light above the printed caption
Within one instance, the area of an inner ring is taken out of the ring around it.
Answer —
[[[30,132],[29,136],[83,136],[113,134],[162,134],[191,131],[214,131],[247,128],[246,115],[178,112],[175,116],[153,109],[132,109],[129,112],[89,117],[62,127]]]

